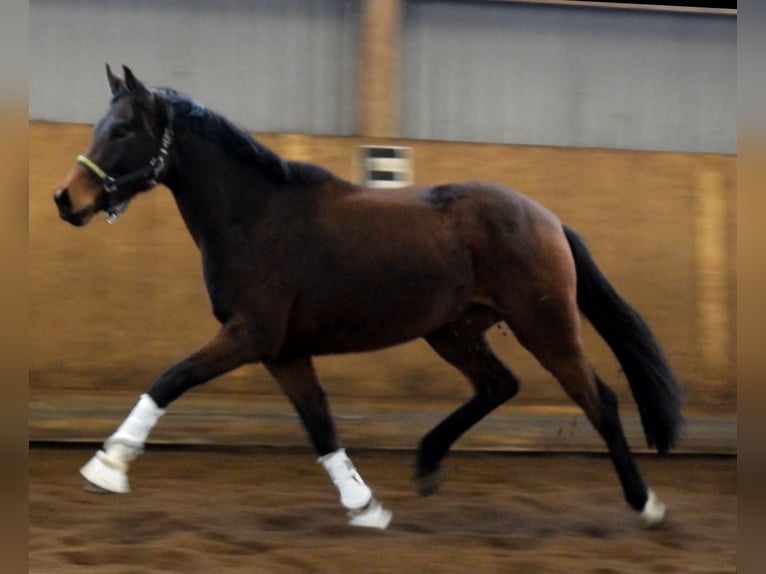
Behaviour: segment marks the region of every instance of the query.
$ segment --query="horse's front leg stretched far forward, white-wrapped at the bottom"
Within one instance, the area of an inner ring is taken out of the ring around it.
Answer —
[[[89,490],[122,494],[130,491],[128,469],[143,452],[149,433],[167,406],[183,393],[257,358],[253,338],[243,322],[224,325],[206,345],[165,370],[81,469]]]

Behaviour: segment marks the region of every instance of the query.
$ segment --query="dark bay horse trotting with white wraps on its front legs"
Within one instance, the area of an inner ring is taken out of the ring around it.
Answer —
[[[641,317],[582,240],[531,199],[488,183],[367,189],[285,161],[198,102],[147,88],[107,66],[112,100],[54,199],[60,216],[113,221],[158,183],[173,193],[199,247],[218,333],[163,372],[82,469],[129,490],[127,469],[165,408],[190,388],[262,362],[294,404],[350,522],[385,528],[390,513],[341,448],[312,356],[423,337],[475,394],[423,437],[416,482],[440,480],[450,446],[513,397],[518,381],[487,345],[504,321],[606,441],[625,497],[649,524],[664,506],[628,448],[614,393],[583,349],[582,312],[628,378],[650,446],[671,448],[681,391]]]

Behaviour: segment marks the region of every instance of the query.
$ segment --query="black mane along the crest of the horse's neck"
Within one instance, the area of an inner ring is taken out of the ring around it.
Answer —
[[[257,166],[263,176],[276,183],[311,185],[336,178],[318,165],[281,158],[247,130],[193,98],[170,88],[158,88],[155,93],[173,107],[176,120],[183,122],[192,133]]]

